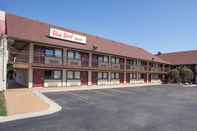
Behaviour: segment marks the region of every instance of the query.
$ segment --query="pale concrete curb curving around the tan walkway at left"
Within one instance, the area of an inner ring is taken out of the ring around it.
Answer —
[[[3,116],[0,117],[0,123],[14,121],[14,120],[20,120],[20,119],[27,119],[27,118],[33,118],[38,116],[45,116],[50,115],[55,112],[58,112],[62,109],[60,105],[43,95],[41,92],[33,91],[33,94],[40,97],[42,100],[44,100],[47,104],[49,104],[49,108],[44,111],[39,112],[31,112],[31,113],[24,113],[24,114],[17,114],[17,115],[11,115],[11,116]]]

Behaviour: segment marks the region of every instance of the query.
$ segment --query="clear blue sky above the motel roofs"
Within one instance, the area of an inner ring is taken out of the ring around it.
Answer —
[[[171,52],[197,49],[197,0],[0,0],[0,10]]]

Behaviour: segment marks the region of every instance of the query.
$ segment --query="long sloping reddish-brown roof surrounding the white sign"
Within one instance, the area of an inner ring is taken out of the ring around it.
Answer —
[[[169,62],[166,62],[154,56],[153,54],[145,51],[142,48],[38,22],[28,18],[15,16],[12,14],[6,15],[6,27],[8,37],[15,39],[28,40],[32,42],[39,42],[70,48],[78,48],[84,50],[92,50],[93,46],[96,46],[96,51],[101,53],[138,58],[149,61],[152,61],[154,59],[154,61],[156,62],[169,64]],[[50,27],[55,27],[64,31],[85,35],[87,37],[87,44],[78,44],[70,41],[63,41],[59,39],[50,38],[48,37]]]

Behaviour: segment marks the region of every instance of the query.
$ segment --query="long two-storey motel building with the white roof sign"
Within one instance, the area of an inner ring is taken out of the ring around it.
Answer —
[[[0,11],[0,88],[161,83],[170,63],[142,48]]]

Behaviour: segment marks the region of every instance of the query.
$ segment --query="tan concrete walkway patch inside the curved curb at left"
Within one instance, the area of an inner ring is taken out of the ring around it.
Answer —
[[[29,89],[8,89],[5,92],[7,114],[24,114],[47,110],[49,105]]]

